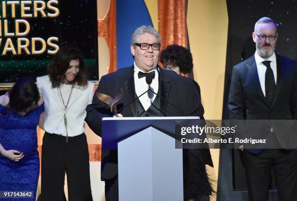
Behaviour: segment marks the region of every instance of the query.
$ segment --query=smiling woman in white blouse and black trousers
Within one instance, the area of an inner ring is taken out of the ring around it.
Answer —
[[[46,131],[42,144],[41,200],[62,201],[67,174],[70,201],[92,201],[89,153],[84,134],[85,108],[92,102],[94,84],[86,79],[82,51],[62,47],[37,77],[44,99]]]

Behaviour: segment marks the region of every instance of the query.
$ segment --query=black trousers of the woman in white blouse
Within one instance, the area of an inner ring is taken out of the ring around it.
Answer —
[[[67,174],[68,200],[92,201],[86,136],[45,133],[41,159],[41,201],[63,201]]]

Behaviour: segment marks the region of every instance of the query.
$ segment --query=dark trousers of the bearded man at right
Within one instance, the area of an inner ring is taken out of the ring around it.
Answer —
[[[297,150],[264,149],[259,154],[244,150],[242,160],[247,173],[249,201],[268,200],[272,168],[279,201],[296,200]]]

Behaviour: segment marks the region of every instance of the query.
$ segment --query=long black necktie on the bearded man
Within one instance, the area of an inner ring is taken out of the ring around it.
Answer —
[[[265,96],[266,96],[266,99],[267,99],[269,105],[271,106],[276,84],[275,84],[273,71],[270,67],[270,62],[271,61],[264,61],[262,63],[267,68],[266,72],[265,72]]]

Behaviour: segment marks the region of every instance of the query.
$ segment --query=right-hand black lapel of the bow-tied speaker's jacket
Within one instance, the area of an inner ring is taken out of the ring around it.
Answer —
[[[170,80],[167,77],[164,77],[163,69],[157,66],[157,70],[159,72],[159,91],[160,96],[168,100],[169,92],[170,92]],[[167,101],[160,98],[159,108],[165,114],[167,108]],[[163,116],[163,114],[161,116]]]

